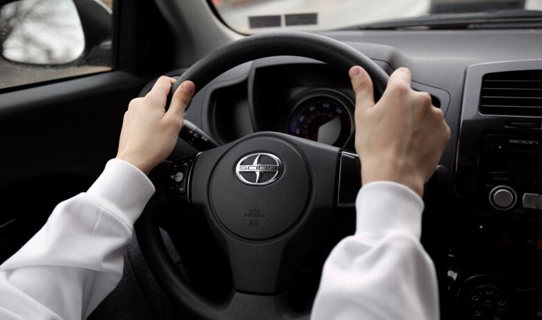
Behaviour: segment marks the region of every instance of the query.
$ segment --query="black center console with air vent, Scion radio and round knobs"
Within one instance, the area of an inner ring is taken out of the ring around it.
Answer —
[[[542,60],[468,67],[454,176],[450,319],[542,319]]]

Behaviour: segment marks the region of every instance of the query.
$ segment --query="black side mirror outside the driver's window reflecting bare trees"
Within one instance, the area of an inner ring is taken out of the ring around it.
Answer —
[[[111,35],[111,10],[97,0],[1,2],[0,56],[9,62],[110,65]]]

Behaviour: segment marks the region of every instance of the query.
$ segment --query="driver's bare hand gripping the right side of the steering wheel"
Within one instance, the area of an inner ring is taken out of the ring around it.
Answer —
[[[411,73],[397,69],[378,103],[370,76],[361,67],[350,69],[356,92],[356,151],[361,160],[361,183],[379,180],[401,183],[422,196],[450,128],[427,92],[411,89]]]

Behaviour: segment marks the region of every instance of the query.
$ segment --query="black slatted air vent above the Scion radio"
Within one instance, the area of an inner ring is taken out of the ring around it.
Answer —
[[[542,117],[542,70],[486,74],[482,78],[480,112]]]

